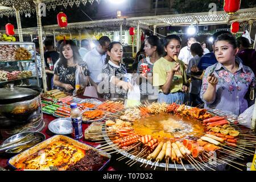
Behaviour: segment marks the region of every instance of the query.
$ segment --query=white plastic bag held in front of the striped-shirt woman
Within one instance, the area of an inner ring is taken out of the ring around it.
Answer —
[[[131,79],[133,90],[127,93],[127,100],[125,100],[125,107],[133,107],[141,105],[141,90],[139,85],[136,84],[135,77]]]

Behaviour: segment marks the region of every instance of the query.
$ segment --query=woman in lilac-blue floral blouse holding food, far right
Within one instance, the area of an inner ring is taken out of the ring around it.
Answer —
[[[230,111],[239,115],[248,107],[246,94],[254,89],[254,73],[237,58],[238,46],[232,35],[222,34],[214,42],[218,63],[205,70],[201,99],[205,108]]]

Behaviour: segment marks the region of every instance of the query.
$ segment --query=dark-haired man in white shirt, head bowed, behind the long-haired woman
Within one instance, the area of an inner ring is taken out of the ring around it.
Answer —
[[[105,65],[106,61],[106,52],[108,51],[110,44],[110,39],[108,36],[102,36],[95,48],[92,51],[86,53],[82,60],[86,61],[89,71],[90,77],[96,84],[100,83],[102,80],[101,78],[101,71]]]

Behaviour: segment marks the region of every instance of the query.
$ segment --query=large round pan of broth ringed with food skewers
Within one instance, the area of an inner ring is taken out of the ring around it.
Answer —
[[[220,110],[152,103],[122,113],[102,127],[102,150],[121,154],[117,161],[129,166],[221,170],[253,155],[250,147],[256,147],[250,131],[238,127],[244,121]]]

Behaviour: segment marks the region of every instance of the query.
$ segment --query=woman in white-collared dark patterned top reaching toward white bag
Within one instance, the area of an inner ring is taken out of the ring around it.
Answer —
[[[102,69],[102,82],[98,85],[98,90],[104,93],[104,98],[111,97],[126,97],[127,90],[133,89],[130,82],[123,81],[123,75],[127,73],[124,64],[121,64],[123,56],[122,44],[119,42],[112,42],[109,45],[108,56],[106,64]]]

